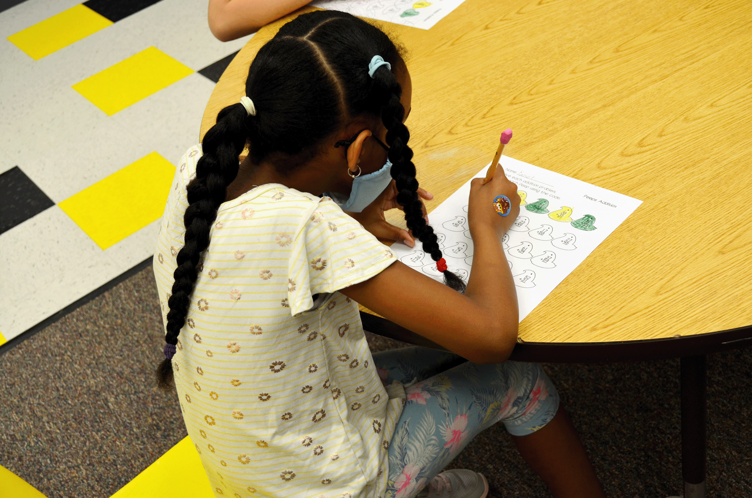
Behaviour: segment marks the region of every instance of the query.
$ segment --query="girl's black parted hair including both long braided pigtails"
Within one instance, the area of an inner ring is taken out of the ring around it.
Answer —
[[[434,261],[441,259],[436,234],[423,218],[417,195],[410,132],[402,123],[402,87],[385,65],[374,77],[368,75],[368,63],[376,55],[395,71],[405,67],[400,50],[381,29],[338,11],[302,14],[259,49],[245,85],[256,115],[248,115],[239,103],[220,111],[217,124],[204,136],[196,178],[187,187],[185,243],[177,253],[168,300],[165,351],[177,345],[185,325],[211,225],[227,186],[238,175],[238,156],[246,145],[253,164],[263,160],[278,172],[290,172],[316,156],[325,139],[348,119],[362,114],[381,118],[397,202],[405,208],[408,229]],[[452,272],[444,272],[444,280],[453,289],[465,289]],[[157,383],[167,388],[172,381],[172,363],[165,358],[157,369]]]

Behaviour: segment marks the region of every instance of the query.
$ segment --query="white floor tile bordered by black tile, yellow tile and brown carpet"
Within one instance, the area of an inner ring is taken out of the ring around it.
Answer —
[[[123,272],[58,206],[0,235],[0,254],[5,339]]]

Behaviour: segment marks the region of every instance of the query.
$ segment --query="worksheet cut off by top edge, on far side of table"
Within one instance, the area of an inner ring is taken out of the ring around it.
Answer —
[[[313,7],[349,12],[387,23],[429,29],[465,0],[316,0]]]

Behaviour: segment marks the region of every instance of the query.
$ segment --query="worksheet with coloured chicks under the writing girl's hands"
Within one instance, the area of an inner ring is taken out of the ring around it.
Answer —
[[[500,162],[522,199],[520,216],[502,238],[522,321],[642,201],[511,157],[502,156]],[[484,178],[487,169],[476,176]],[[467,222],[469,193],[470,181],[429,214],[447,268],[465,281],[473,256]],[[443,281],[436,263],[421,251],[420,241],[413,249],[401,242],[391,248],[402,263]]]

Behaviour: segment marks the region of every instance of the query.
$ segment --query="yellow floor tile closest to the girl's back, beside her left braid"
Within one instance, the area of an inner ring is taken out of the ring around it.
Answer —
[[[162,216],[175,167],[153,152],[59,203],[107,249]]]

